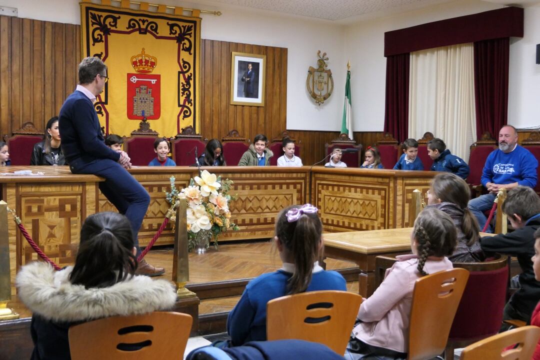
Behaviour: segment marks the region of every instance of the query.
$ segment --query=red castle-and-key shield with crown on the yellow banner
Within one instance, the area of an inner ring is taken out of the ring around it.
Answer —
[[[151,74],[158,59],[145,52],[131,57],[131,66],[136,73],[127,74],[127,118],[159,119],[161,111],[161,77]]]

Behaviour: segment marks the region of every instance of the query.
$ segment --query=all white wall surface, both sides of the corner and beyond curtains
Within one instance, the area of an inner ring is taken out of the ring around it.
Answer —
[[[193,5],[174,0],[159,3]],[[460,0],[346,26],[270,11],[202,3],[204,0],[193,7],[223,13],[219,17],[202,15],[203,38],[287,47],[287,128],[327,131],[341,128],[347,60],[352,66],[354,131],[383,130],[384,32],[503,7],[480,0]],[[78,0],[0,0],[0,5],[18,8],[19,17],[80,23]],[[535,64],[538,43],[540,6],[529,5],[525,8],[524,38],[512,39],[510,45],[508,122],[518,128],[540,126],[540,65]],[[334,93],[322,106],[314,104],[305,85],[307,69],[316,65],[318,50],[327,52],[329,69],[334,76]]]

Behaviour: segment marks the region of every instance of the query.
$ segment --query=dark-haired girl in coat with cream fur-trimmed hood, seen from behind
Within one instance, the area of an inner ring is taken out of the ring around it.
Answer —
[[[80,230],[75,266],[55,271],[33,261],[17,274],[19,299],[32,311],[32,359],[70,359],[71,325],[116,315],[171,309],[176,290],[165,280],[134,275],[136,248],[129,220],[89,216]]]

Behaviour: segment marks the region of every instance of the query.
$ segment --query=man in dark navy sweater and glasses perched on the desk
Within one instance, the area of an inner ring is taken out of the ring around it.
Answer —
[[[93,103],[107,82],[107,66],[95,57],[79,64],[79,85],[60,109],[58,125],[62,152],[73,174],[93,174],[105,178],[99,189],[121,214],[131,222],[137,256],[140,254],[138,233],[150,204],[150,195],[126,169],[131,167],[125,152],[105,145],[105,139]],[[137,274],[156,276],[165,273],[144,259]]]

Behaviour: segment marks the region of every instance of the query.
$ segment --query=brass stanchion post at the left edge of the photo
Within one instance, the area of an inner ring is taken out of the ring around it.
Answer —
[[[19,314],[8,308],[8,301],[11,300],[10,275],[8,204],[0,201],[0,321],[19,318]]]

